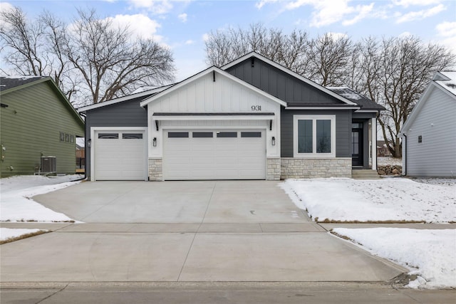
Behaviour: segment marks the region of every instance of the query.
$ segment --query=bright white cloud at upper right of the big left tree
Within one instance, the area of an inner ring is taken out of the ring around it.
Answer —
[[[160,23],[143,14],[135,15],[116,15],[108,17],[113,22],[114,26],[128,26],[133,35],[140,38],[154,38],[155,41],[161,41],[162,37],[155,35],[157,28],[160,28]]]

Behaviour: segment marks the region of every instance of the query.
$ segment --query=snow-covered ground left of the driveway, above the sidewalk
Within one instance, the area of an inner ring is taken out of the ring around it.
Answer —
[[[73,221],[31,199],[32,196],[62,189],[77,182],[81,175],[44,177],[24,175],[0,179],[0,221]]]

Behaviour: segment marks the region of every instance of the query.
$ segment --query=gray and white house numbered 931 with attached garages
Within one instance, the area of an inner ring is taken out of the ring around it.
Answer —
[[[351,177],[376,170],[383,107],[257,53],[79,109],[90,180]]]

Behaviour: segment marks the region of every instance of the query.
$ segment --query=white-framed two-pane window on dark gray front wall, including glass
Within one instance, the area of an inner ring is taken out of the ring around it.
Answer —
[[[294,115],[294,157],[336,157],[336,115]]]

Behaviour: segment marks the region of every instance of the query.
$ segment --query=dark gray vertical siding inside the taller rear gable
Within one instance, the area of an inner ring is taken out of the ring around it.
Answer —
[[[343,104],[331,95],[257,58],[254,59],[253,67],[251,59],[247,59],[226,71],[287,103]]]

